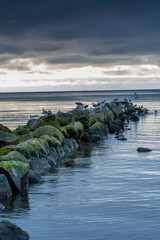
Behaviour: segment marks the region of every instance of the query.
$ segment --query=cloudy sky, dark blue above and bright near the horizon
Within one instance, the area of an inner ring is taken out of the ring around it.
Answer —
[[[160,89],[159,0],[1,0],[0,92]]]

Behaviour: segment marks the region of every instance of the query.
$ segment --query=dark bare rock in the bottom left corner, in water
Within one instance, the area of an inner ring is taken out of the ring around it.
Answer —
[[[30,236],[27,232],[8,221],[0,222],[1,240],[28,240]]]

